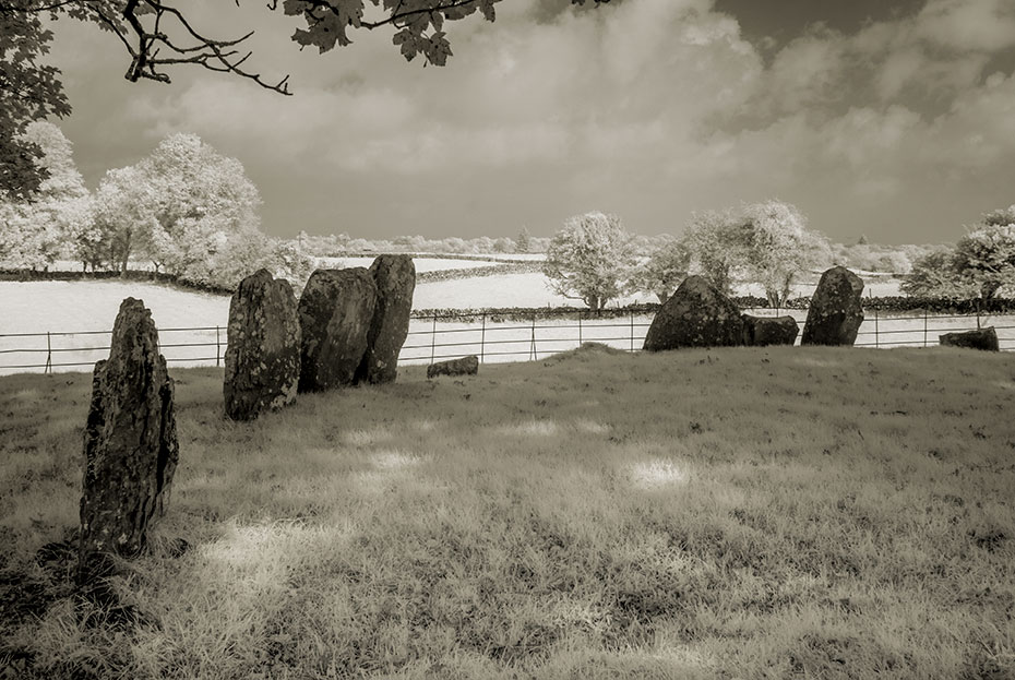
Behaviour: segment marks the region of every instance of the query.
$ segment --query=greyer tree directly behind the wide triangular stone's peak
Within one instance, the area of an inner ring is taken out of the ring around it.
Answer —
[[[750,228],[733,211],[693,213],[683,232],[692,270],[723,293],[732,293],[732,272],[747,261]]]

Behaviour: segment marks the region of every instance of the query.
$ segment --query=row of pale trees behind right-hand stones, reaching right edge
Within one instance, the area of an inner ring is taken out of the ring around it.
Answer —
[[[690,274],[732,294],[735,282],[762,286],[769,307],[787,307],[795,283],[834,264],[900,275],[901,290],[922,298],[992,299],[1015,293],[1015,206],[994,211],[954,248],[831,243],[796,206],[777,200],[691,216],[680,237],[645,248],[616,215],[569,218],[547,248],[551,288],[600,310],[635,293],[660,302]]]

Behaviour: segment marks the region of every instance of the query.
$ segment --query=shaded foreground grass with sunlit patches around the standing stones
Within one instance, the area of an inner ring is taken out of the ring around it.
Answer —
[[[242,425],[219,372],[172,374],[128,624],[36,559],[76,524],[89,377],[0,378],[0,669],[1015,676],[1011,355],[583,348]]]

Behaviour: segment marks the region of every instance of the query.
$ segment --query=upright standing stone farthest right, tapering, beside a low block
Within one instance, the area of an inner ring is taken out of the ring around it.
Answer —
[[[863,322],[863,282],[844,266],[821,275],[811,297],[801,345],[852,345]]]

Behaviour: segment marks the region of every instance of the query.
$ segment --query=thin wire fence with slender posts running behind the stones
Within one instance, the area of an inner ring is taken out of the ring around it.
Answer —
[[[805,310],[744,310],[755,315],[792,315],[802,325]],[[504,320],[499,314],[441,314],[416,318],[398,359],[399,365],[432,363],[476,355],[483,363],[534,361],[597,342],[618,349],[641,349],[652,315]],[[894,315],[872,310],[860,326],[856,347],[929,347],[939,335],[993,326],[1002,350],[1015,350],[1015,315],[920,314]],[[91,369],[109,354],[112,331],[0,333],[0,374],[20,371],[56,372]],[[159,329],[159,350],[180,366],[222,366],[227,347],[226,326]],[[797,344],[800,343],[798,336]]]

